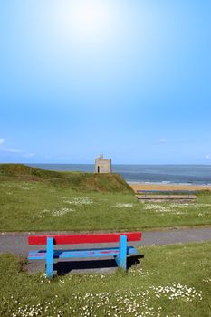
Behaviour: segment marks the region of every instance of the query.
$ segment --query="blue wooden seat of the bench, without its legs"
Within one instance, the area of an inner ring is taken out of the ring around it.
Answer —
[[[89,250],[54,250],[53,258],[54,259],[65,259],[73,257],[103,257],[103,256],[116,256],[120,252],[119,248],[102,248],[102,249],[89,249]],[[139,251],[133,247],[127,247],[127,255],[138,255]],[[44,250],[35,250],[30,251],[29,260],[45,260],[46,251]]]

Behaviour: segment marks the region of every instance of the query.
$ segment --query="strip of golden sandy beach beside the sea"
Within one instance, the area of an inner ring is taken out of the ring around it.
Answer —
[[[211,186],[197,186],[186,184],[146,184],[129,183],[129,186],[136,192],[137,190],[211,190]]]

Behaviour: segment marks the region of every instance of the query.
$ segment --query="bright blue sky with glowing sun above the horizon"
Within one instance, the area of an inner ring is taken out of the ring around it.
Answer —
[[[209,0],[0,1],[0,163],[211,164]]]

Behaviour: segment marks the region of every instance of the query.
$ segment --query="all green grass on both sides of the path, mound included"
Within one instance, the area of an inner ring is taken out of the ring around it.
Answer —
[[[211,225],[211,195],[190,204],[140,203],[117,175],[0,165],[0,231],[123,231]],[[48,281],[24,258],[0,255],[1,317],[211,316],[211,245],[145,247],[127,274]]]

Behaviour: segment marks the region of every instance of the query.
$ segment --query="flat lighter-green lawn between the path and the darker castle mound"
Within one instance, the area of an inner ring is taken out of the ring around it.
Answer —
[[[195,203],[140,203],[130,193],[74,191],[41,181],[0,182],[0,231],[139,230],[211,224],[211,195]]]

